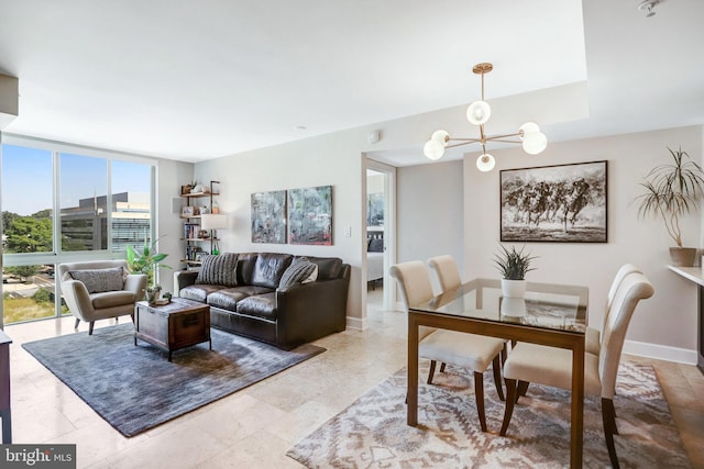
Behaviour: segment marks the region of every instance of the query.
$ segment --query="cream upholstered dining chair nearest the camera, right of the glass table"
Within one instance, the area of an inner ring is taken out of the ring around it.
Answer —
[[[652,297],[653,293],[652,284],[642,273],[631,272],[625,276],[616,288],[610,308],[606,312],[608,319],[598,355],[586,351],[584,354],[584,393],[602,398],[604,437],[614,468],[619,467],[614,446],[614,435],[618,434],[614,394],[620,354],[628,324],[638,302]],[[572,353],[562,348],[518,343],[504,364],[504,378],[507,394],[504,423],[499,432],[502,436],[506,435],[515,403],[518,401],[517,386],[539,382],[572,389]]]

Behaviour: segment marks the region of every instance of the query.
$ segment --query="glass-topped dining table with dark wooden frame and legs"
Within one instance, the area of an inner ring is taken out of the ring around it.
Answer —
[[[407,423],[418,425],[418,337],[421,326],[481,334],[572,350],[570,467],[582,467],[584,343],[588,288],[526,282],[522,298],[505,298],[501,279],[476,278],[408,306]]]

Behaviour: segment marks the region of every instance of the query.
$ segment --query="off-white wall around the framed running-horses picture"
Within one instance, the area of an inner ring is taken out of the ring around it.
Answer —
[[[673,243],[662,224],[639,220],[632,200],[639,183],[656,165],[669,163],[667,146],[686,150],[702,161],[703,127],[663,130],[575,142],[550,143],[546,152],[528,156],[520,148],[492,150],[496,168],[487,174],[475,167],[476,154],[464,163],[464,260],[470,277],[496,277],[492,264],[499,239],[499,170],[608,160],[608,243],[529,243],[539,256],[529,280],[590,287],[590,323],[601,327],[603,304],[610,280],[625,263],[640,267],[656,294],[644,301],[628,330],[625,350],[694,362],[696,348],[696,289],[667,269]],[[701,217],[683,220],[684,243],[701,247]],[[642,344],[641,344],[642,343]]]

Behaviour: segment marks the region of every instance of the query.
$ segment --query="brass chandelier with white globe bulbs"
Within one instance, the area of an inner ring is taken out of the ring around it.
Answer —
[[[537,155],[548,146],[548,137],[540,132],[538,124],[532,122],[526,122],[522,124],[518,132],[514,134],[505,135],[492,135],[488,136],[484,132],[484,124],[492,115],[492,108],[486,101],[484,101],[484,74],[492,71],[494,66],[488,63],[476,64],[472,71],[482,75],[482,100],[474,101],[466,110],[466,119],[470,123],[480,126],[479,138],[453,138],[446,131],[436,131],[430,139],[426,143],[422,150],[430,159],[439,159],[444,155],[446,148],[452,148],[455,146],[469,145],[471,143],[479,143],[482,145],[482,155],[476,158],[476,167],[481,171],[491,171],[496,165],[496,160],[492,155],[486,153],[486,142],[501,142],[501,143],[515,143],[520,144],[529,155]],[[518,137],[518,138],[514,138]],[[452,143],[458,142],[458,143]]]

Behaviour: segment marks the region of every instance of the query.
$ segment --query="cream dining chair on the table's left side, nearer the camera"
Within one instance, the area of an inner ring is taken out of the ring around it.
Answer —
[[[408,312],[410,305],[426,303],[435,297],[430,276],[420,260],[392,266],[391,276],[398,282],[406,312]],[[495,337],[422,326],[419,327],[418,340],[419,357],[429,359],[431,364],[440,361],[474,371],[476,412],[482,432],[486,432],[484,371],[492,365],[496,392],[499,399],[504,400],[499,358],[504,348],[504,340]],[[429,384],[431,380],[432,376],[429,375]]]

